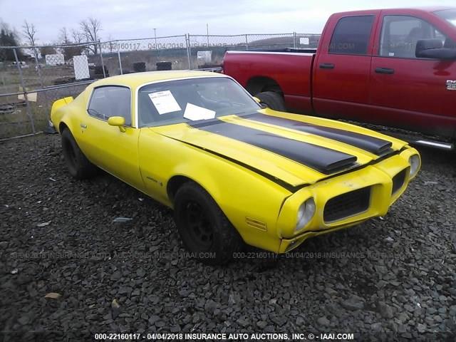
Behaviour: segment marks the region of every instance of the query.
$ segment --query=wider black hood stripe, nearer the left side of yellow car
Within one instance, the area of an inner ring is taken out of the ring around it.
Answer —
[[[218,119],[188,124],[199,130],[222,135],[274,152],[326,175],[357,165],[357,158],[354,155]]]

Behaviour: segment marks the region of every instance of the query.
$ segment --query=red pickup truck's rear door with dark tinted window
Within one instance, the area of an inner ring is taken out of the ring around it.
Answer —
[[[355,119],[366,113],[375,13],[329,19],[314,63],[318,115]]]

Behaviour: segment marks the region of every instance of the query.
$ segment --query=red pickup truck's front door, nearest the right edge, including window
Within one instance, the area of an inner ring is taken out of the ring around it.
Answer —
[[[456,78],[456,61],[416,58],[418,40],[452,39],[418,16],[383,12],[371,67],[371,105],[381,124],[452,136],[456,124],[455,92],[447,81]]]

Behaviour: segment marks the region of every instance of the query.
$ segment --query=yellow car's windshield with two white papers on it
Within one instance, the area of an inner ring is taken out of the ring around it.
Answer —
[[[242,115],[261,106],[231,78],[187,78],[152,83],[138,92],[139,127]]]

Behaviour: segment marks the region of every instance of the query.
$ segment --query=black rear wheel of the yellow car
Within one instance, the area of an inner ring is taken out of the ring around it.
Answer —
[[[78,180],[95,175],[97,168],[88,161],[68,129],[62,132],[62,151],[70,175]]]

